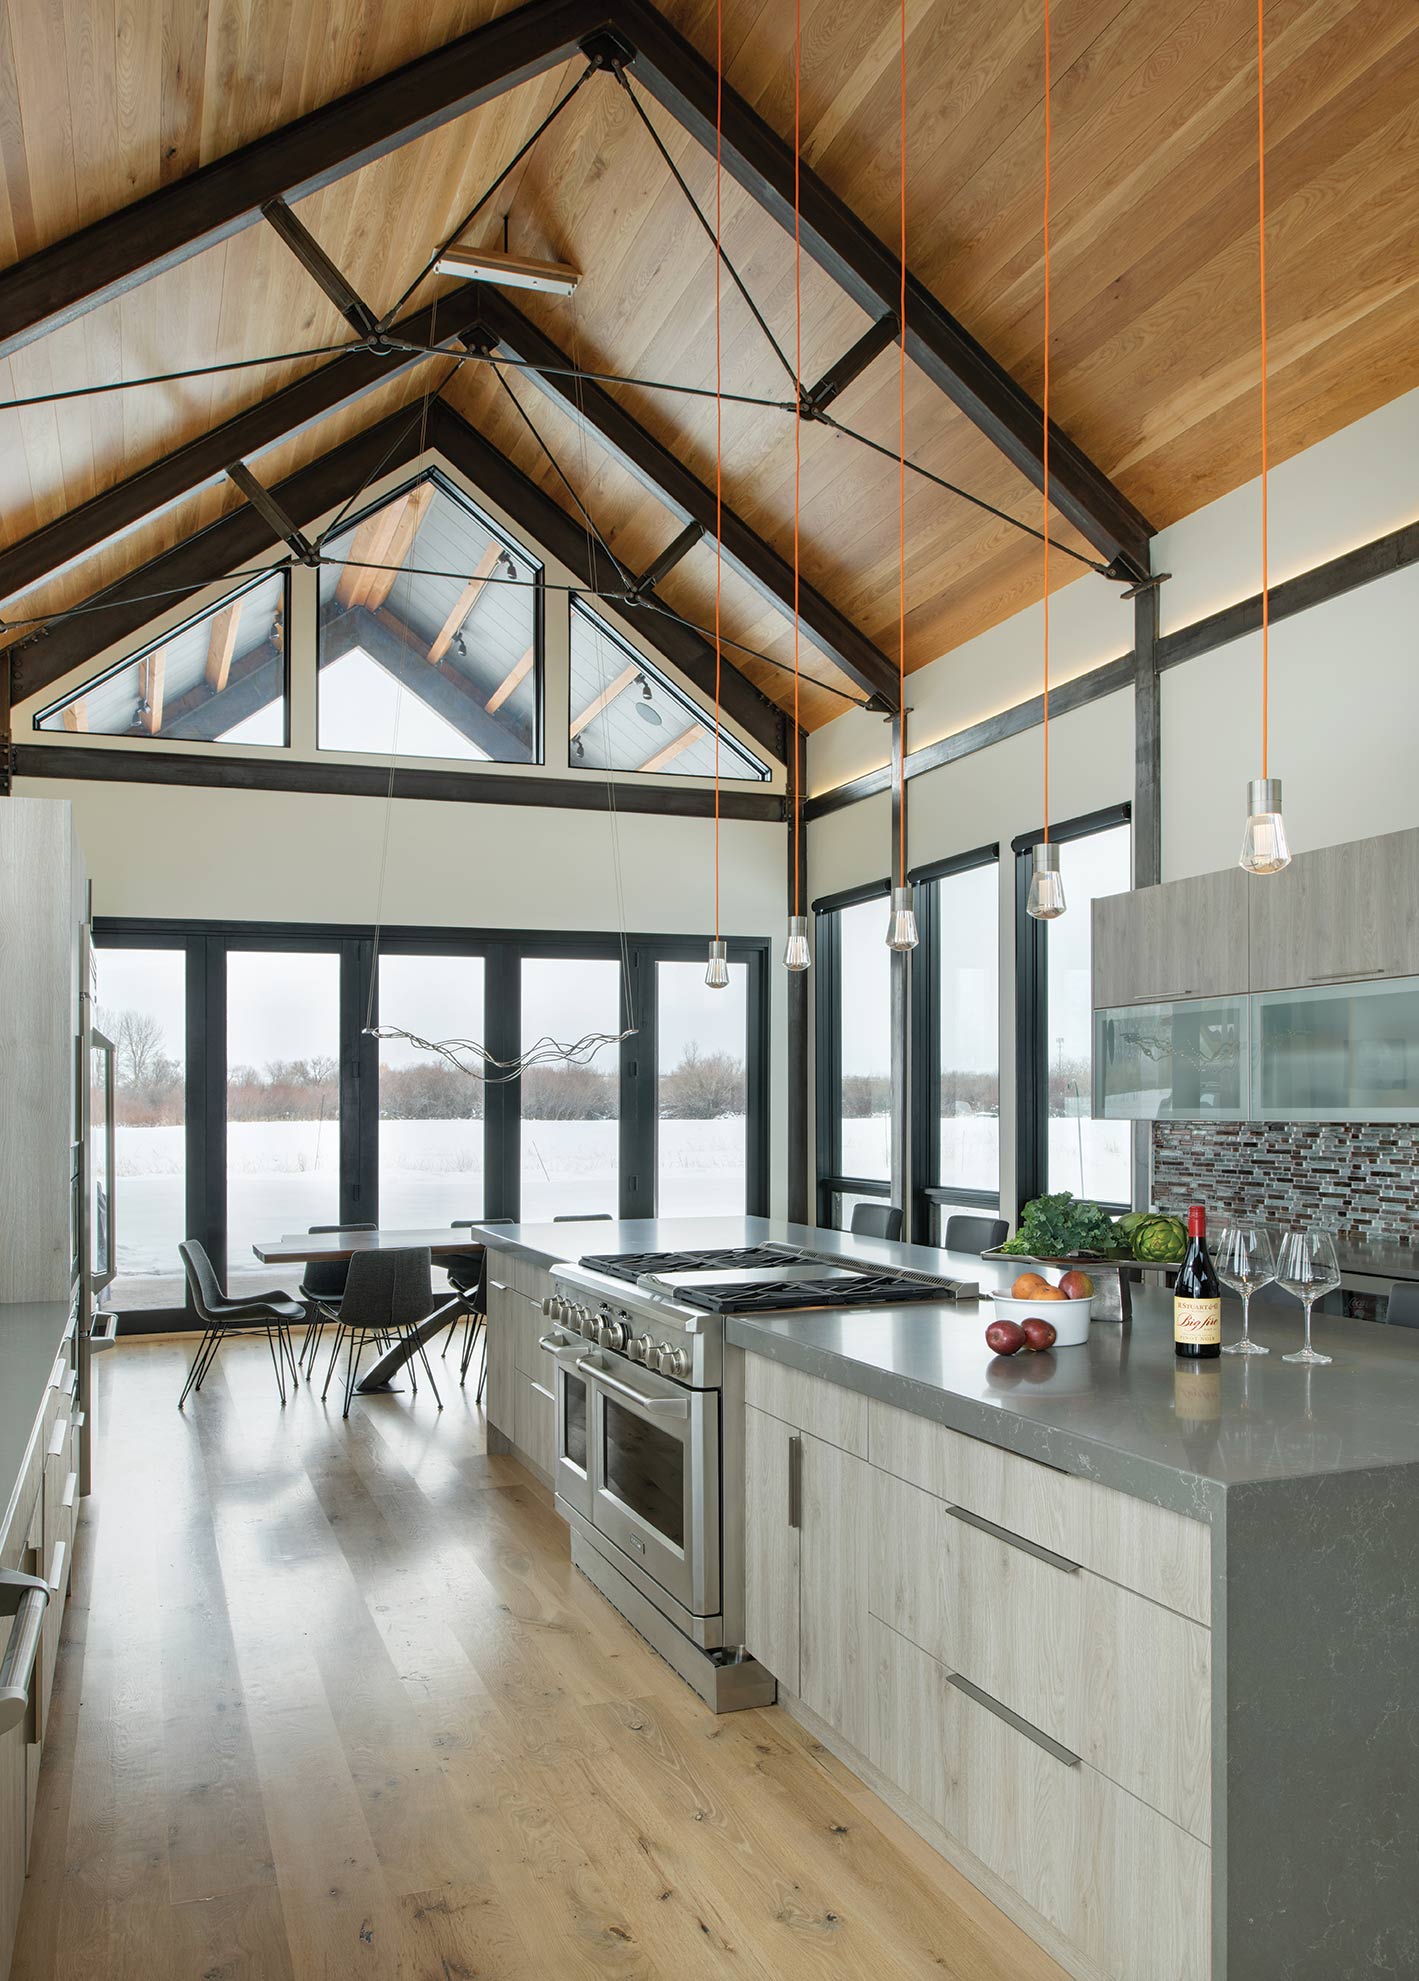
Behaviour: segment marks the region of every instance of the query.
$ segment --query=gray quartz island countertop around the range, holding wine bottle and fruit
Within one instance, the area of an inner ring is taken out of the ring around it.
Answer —
[[[488,1240],[539,1260],[589,1252],[741,1246],[787,1238],[824,1252],[945,1272],[1003,1286],[1011,1270],[967,1254],[902,1246],[773,1218],[660,1218],[491,1226]],[[1300,1305],[1253,1302],[1253,1333],[1270,1355],[1179,1365],[1171,1298],[1138,1288],[1128,1327],[1096,1321],[1090,1341],[1048,1355],[997,1357],[985,1345],[989,1300],[912,1307],[819,1309],[729,1317],[729,1343],[882,1403],[937,1418],[1027,1458],[1060,1466],[1201,1519],[1227,1492],[1278,1480],[1419,1466],[1419,1331],[1316,1317],[1334,1357],[1302,1369]],[[1223,1303],[1223,1339],[1241,1307]]]

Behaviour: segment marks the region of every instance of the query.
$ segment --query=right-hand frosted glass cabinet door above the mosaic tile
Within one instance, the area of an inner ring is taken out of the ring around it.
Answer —
[[[1419,1121],[1419,977],[1253,998],[1260,1121]]]

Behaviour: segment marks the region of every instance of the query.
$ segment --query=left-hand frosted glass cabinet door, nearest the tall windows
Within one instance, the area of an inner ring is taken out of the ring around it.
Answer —
[[[1243,1121],[1247,998],[1094,1012],[1094,1119]]]

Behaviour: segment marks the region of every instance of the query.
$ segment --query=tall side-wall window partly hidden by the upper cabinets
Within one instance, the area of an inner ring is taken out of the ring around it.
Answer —
[[[1102,1204],[1132,1199],[1128,1121],[1094,1121],[1090,903],[1124,893],[1132,872],[1128,806],[1094,812],[1050,828],[1060,850],[1066,909],[1054,921],[1025,913],[1031,852],[1038,834],[1015,842],[1017,854],[1017,1050],[1019,1050],[1019,1197],[1072,1191]]]

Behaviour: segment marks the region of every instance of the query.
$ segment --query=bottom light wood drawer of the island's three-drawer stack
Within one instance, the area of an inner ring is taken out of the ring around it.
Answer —
[[[1207,1981],[1209,1848],[868,1630],[874,1765],[1108,1981]]]

